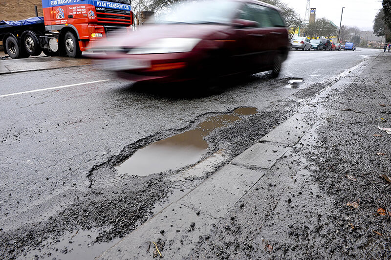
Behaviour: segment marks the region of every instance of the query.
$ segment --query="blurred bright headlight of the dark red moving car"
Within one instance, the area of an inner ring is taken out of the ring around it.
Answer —
[[[144,46],[132,48],[128,54],[189,52],[200,41],[201,39],[197,38],[162,38]]]

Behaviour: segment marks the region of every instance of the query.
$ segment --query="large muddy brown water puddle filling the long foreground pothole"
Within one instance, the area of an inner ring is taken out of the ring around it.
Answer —
[[[258,113],[257,108],[237,108],[230,114],[209,117],[195,129],[154,142],[135,152],[128,160],[115,167],[119,173],[145,176],[176,170],[194,164],[208,151],[204,140],[212,130],[241,120],[240,116]]]

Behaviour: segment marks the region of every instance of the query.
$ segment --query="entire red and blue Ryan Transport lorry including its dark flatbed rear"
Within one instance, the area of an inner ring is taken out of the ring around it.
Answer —
[[[1,21],[0,41],[12,59],[80,57],[110,34],[131,30],[130,0],[42,0],[43,17]]]

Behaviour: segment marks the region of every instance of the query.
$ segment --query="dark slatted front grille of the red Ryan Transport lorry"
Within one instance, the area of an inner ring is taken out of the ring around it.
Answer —
[[[113,26],[129,26],[133,23],[132,13],[125,10],[96,7],[98,23]]]

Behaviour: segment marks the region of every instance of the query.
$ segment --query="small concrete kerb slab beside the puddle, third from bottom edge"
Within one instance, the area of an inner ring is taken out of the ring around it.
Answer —
[[[270,169],[289,148],[279,143],[256,143],[237,156],[231,164],[248,168]]]

